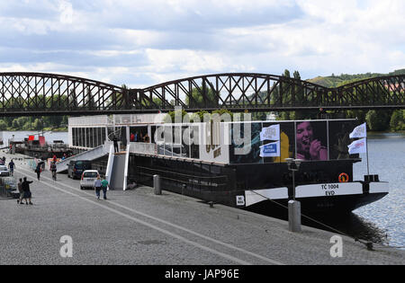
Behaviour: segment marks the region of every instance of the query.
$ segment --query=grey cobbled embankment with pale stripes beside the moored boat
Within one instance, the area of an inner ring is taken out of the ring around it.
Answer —
[[[11,156],[7,156],[7,162]],[[208,205],[148,187],[109,191],[97,200],[79,181],[50,172],[36,174],[16,161],[17,178],[27,176],[33,206],[0,199],[0,264],[404,264],[404,252],[367,251],[343,236],[342,257],[330,255],[332,233],[236,208]],[[73,240],[73,257],[59,251],[62,236]]]

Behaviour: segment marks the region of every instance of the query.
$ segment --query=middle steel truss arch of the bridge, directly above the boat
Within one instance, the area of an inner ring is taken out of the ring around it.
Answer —
[[[178,105],[190,111],[219,108],[259,111],[305,108],[321,102],[328,90],[319,84],[282,75],[223,73],[156,84],[141,93],[149,102],[155,102],[154,107],[164,109]]]

